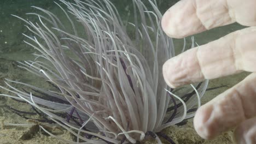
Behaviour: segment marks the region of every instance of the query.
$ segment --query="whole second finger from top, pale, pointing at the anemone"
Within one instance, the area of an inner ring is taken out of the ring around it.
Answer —
[[[165,62],[162,68],[168,86],[175,88],[204,79],[256,71],[256,27],[236,31],[195,47]]]

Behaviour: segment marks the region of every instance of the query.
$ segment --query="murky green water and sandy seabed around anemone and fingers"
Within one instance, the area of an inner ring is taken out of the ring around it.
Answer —
[[[144,0],[147,1],[147,0]],[[171,7],[177,0],[156,0],[158,7],[162,14]],[[57,2],[57,1],[56,1]],[[124,21],[132,21],[132,14],[130,15],[129,7],[132,7],[131,0],[112,0],[117,7],[119,14]],[[49,83],[42,81],[39,77],[32,75],[24,69],[20,69],[16,61],[29,61],[33,60],[34,56],[31,54],[35,52],[31,46],[24,43],[26,38],[22,33],[28,33],[25,23],[17,19],[13,15],[18,15],[24,19],[28,18],[26,13],[34,12],[37,10],[31,6],[37,6],[53,12],[54,14],[61,15],[61,10],[57,8],[53,0],[0,0],[0,86],[5,86],[4,79],[15,81],[23,81],[49,88]],[[61,19],[61,18],[60,18]],[[36,22],[37,17],[30,17],[30,21]],[[65,21],[62,21],[65,23]],[[243,26],[234,23],[232,25],[214,28],[210,31],[194,35],[197,44],[203,45],[212,40],[216,40],[224,35],[242,29]],[[132,32],[131,32],[132,33]],[[176,48],[176,55],[182,50],[183,39],[173,39],[174,47]],[[191,44],[191,39],[187,38],[187,45]],[[234,86],[236,83],[244,79],[248,73],[236,74],[220,79],[211,80],[209,83],[208,91],[202,98],[202,104],[216,97],[219,93],[224,92],[226,89]],[[213,88],[213,89],[211,89]],[[0,93],[7,93],[0,89]],[[17,101],[9,98],[0,97],[0,144],[7,143],[62,143],[49,135],[46,135],[37,128],[23,128],[23,127],[3,127],[2,123],[28,123],[25,118],[22,118],[10,110],[10,107],[20,111],[30,111],[31,106],[18,103]],[[39,116],[32,118],[37,119]],[[231,132],[224,133],[222,136],[217,137],[215,140],[203,140],[197,136],[193,128],[193,119],[185,120],[181,124],[174,125],[164,130],[164,133],[170,136],[176,143],[232,143]],[[32,122],[33,123],[33,122]],[[67,131],[57,131],[61,137],[65,139],[73,139],[72,135]],[[154,140],[148,140],[144,143],[156,143]],[[165,143],[165,141],[163,141]],[[167,143],[167,142],[166,142]]]

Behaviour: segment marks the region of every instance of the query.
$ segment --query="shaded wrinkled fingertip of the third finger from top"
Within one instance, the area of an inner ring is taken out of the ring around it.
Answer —
[[[241,95],[234,89],[228,89],[196,111],[194,127],[203,139],[214,139],[245,119]]]

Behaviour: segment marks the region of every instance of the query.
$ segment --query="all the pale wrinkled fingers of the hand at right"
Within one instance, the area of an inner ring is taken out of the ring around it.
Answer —
[[[234,22],[249,27],[169,59],[163,74],[168,86],[176,88],[241,71],[252,72],[201,106],[194,127],[203,139],[214,139],[235,128],[237,143],[256,143],[256,1],[182,0],[166,11],[162,28],[172,38],[183,38]]]

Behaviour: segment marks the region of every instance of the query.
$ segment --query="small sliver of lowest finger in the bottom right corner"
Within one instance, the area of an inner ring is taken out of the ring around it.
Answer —
[[[236,143],[256,143],[256,117],[242,122],[234,132]]]

